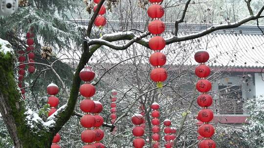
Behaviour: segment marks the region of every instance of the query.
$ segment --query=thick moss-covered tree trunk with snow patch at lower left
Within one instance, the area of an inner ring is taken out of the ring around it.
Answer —
[[[12,54],[0,52],[0,113],[14,146],[50,148],[55,132],[51,132],[44,126],[42,119],[26,109],[15,81],[13,63]]]

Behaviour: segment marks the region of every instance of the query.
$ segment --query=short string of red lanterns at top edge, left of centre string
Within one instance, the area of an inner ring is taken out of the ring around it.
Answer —
[[[93,7],[93,11],[95,12],[97,9],[97,4],[100,2],[100,0],[93,0],[93,2],[96,3],[96,5]],[[102,5],[99,10],[98,16],[94,20],[94,25],[99,27],[100,29],[103,28],[107,23],[107,19],[103,16],[104,14],[106,14],[106,7]]]

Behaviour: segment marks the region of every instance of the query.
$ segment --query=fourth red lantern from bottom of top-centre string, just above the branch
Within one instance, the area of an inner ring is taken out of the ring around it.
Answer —
[[[161,20],[153,20],[148,26],[149,32],[153,35],[162,34],[165,31],[165,24]]]

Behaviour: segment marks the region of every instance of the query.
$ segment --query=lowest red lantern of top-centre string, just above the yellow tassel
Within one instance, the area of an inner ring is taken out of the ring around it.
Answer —
[[[167,71],[164,68],[155,68],[151,71],[151,79],[154,82],[164,82],[167,77]]]

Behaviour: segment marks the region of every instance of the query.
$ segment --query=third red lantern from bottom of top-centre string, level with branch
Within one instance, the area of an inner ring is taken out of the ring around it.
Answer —
[[[166,46],[166,41],[163,37],[155,36],[152,37],[149,41],[150,49],[152,50],[162,50]]]

